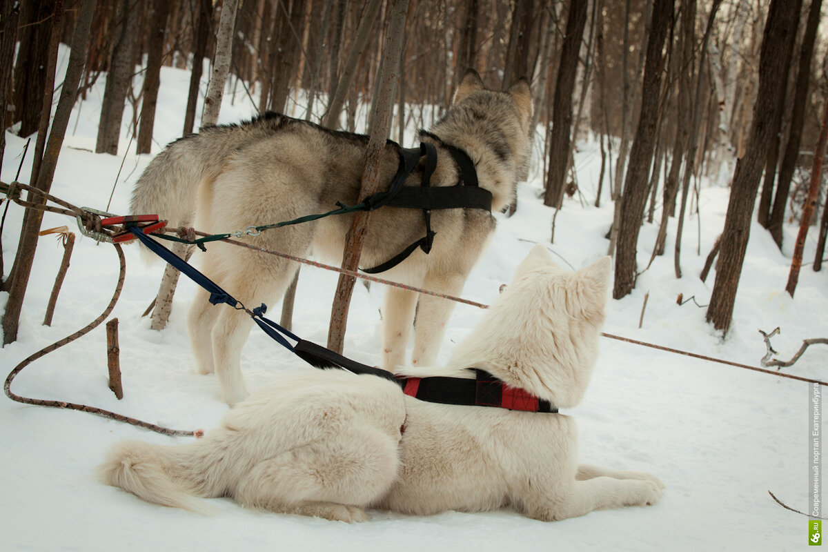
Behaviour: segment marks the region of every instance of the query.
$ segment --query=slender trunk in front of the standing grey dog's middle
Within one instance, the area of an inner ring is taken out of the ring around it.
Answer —
[[[379,161],[388,136],[388,121],[391,118],[394,87],[397,84],[396,66],[402,48],[402,30],[406,24],[407,8],[408,0],[391,0],[390,2],[388,32],[385,35],[383,46],[383,57],[386,63],[383,65],[385,70],[380,77],[382,100],[378,103],[377,116],[373,121],[371,136],[365,151],[362,188],[359,190],[360,199],[373,194],[379,184]],[[345,269],[354,271],[359,266],[359,255],[362,252],[363,239],[368,230],[370,215],[368,211],[359,211],[354,216],[354,223],[351,225],[347,238],[345,238],[342,262],[342,267]],[[330,313],[330,329],[328,330],[328,348],[338,353],[342,352],[345,326],[348,320],[348,308],[353,290],[354,278],[344,275],[339,276],[334,305]]]

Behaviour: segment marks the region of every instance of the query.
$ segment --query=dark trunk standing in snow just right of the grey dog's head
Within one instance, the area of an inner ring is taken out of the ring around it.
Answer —
[[[586,24],[587,0],[570,0],[566,16],[566,35],[561,48],[561,63],[552,100],[551,140],[549,145],[549,170],[546,174],[546,191],[543,204],[558,207],[564,193],[567,158],[570,156],[570,132],[572,130],[572,93],[575,89],[575,72],[578,69],[580,42]]]

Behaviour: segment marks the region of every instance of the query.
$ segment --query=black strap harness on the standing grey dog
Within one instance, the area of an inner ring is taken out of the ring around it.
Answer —
[[[431,209],[485,209],[492,210],[492,193],[480,188],[474,162],[469,155],[459,147],[443,144],[449,151],[460,172],[460,180],[454,186],[431,186],[431,174],[437,166],[437,149],[434,144],[421,142],[418,148],[402,149],[400,151],[400,168],[394,176],[391,186],[386,192],[378,192],[363,200],[365,210],[373,211],[383,206],[400,207],[406,209],[422,209],[426,221],[426,235],[413,242],[386,262],[363,268],[368,274],[378,274],[387,271],[403,262],[409,255],[420,247],[423,252],[431,252],[436,233],[431,230]],[[423,167],[421,185],[404,186],[408,175],[412,173],[421,158],[426,158]]]

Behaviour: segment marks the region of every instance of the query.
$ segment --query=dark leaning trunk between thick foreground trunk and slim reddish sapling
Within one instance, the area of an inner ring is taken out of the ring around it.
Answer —
[[[768,230],[777,246],[782,247],[782,223],[785,220],[787,197],[791,191],[793,170],[799,158],[799,146],[802,143],[802,123],[805,120],[805,108],[808,105],[808,85],[811,83],[811,60],[816,42],[816,29],[820,23],[820,9],[822,0],[811,0],[808,10],[808,20],[805,26],[805,35],[802,37],[802,50],[799,54],[799,69],[797,70],[797,84],[793,93],[793,113],[791,115],[791,130],[788,133],[787,146],[782,156],[782,166],[779,169],[779,182],[773,198],[773,210],[768,218]],[[766,170],[765,180],[768,180]]]

